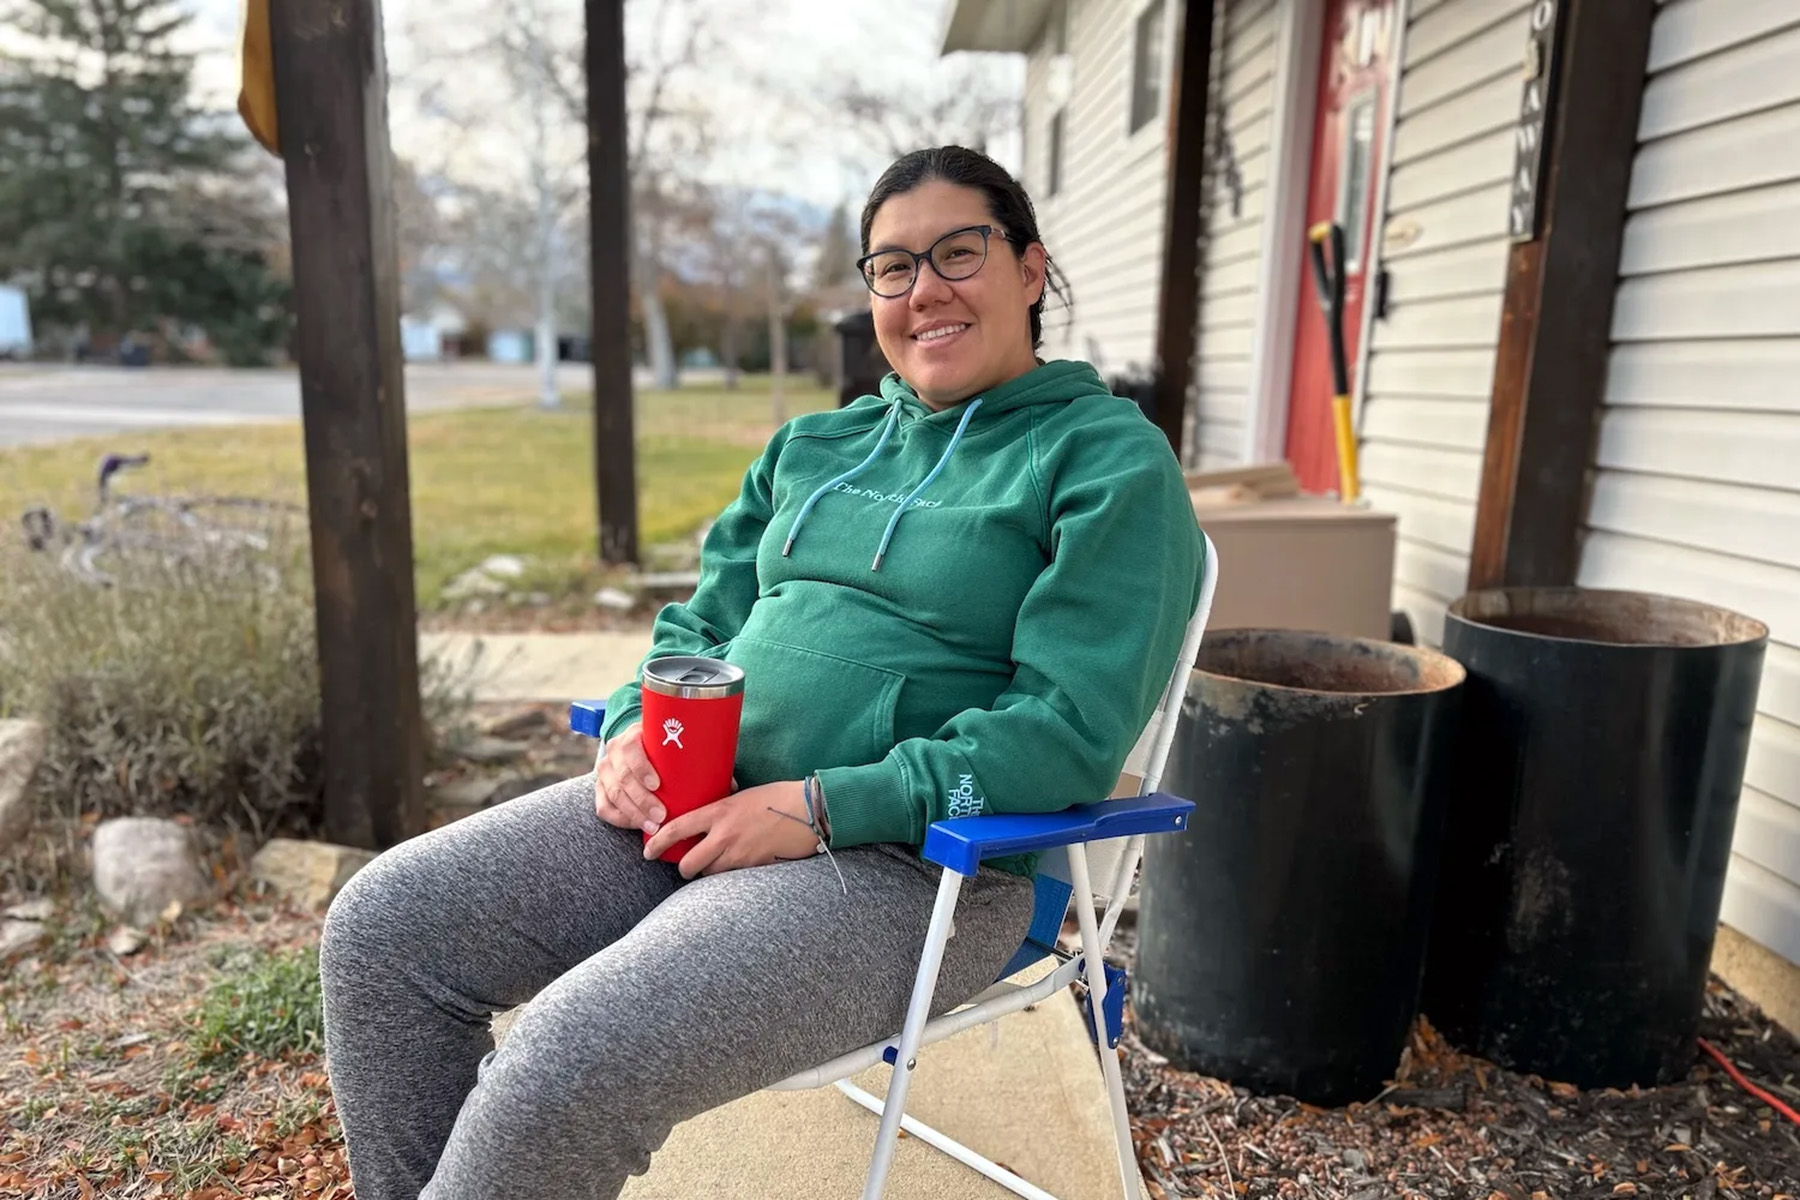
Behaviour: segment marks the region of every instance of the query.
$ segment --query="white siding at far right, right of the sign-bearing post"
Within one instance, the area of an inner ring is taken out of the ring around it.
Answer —
[[[1800,5],[1672,0],[1638,122],[1579,583],[1769,626],[1726,925],[1800,963]]]

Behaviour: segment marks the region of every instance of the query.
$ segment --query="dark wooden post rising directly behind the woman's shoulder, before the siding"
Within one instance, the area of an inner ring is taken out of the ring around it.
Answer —
[[[1213,0],[1181,4],[1168,106],[1168,210],[1163,219],[1163,286],[1156,311],[1156,403],[1168,444],[1181,453],[1193,326],[1201,315],[1201,189],[1206,184],[1206,99],[1211,94]]]

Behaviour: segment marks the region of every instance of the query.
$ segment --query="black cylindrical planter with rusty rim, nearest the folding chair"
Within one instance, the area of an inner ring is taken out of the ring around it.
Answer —
[[[1463,669],[1431,649],[1208,633],[1150,838],[1132,1004],[1188,1070],[1314,1105],[1373,1097],[1417,1013]]]

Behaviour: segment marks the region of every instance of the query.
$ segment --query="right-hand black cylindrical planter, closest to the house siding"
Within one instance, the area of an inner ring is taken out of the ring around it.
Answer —
[[[1640,592],[1472,592],[1422,1007],[1577,1087],[1687,1074],[1768,626]]]

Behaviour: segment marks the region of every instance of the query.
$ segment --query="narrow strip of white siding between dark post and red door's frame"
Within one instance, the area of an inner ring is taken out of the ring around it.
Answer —
[[[1280,27],[1282,5],[1276,0],[1231,0],[1213,31],[1211,106],[1220,121],[1208,126],[1206,140],[1211,184],[1202,198],[1193,426],[1188,439],[1188,457],[1199,470],[1244,459]]]

